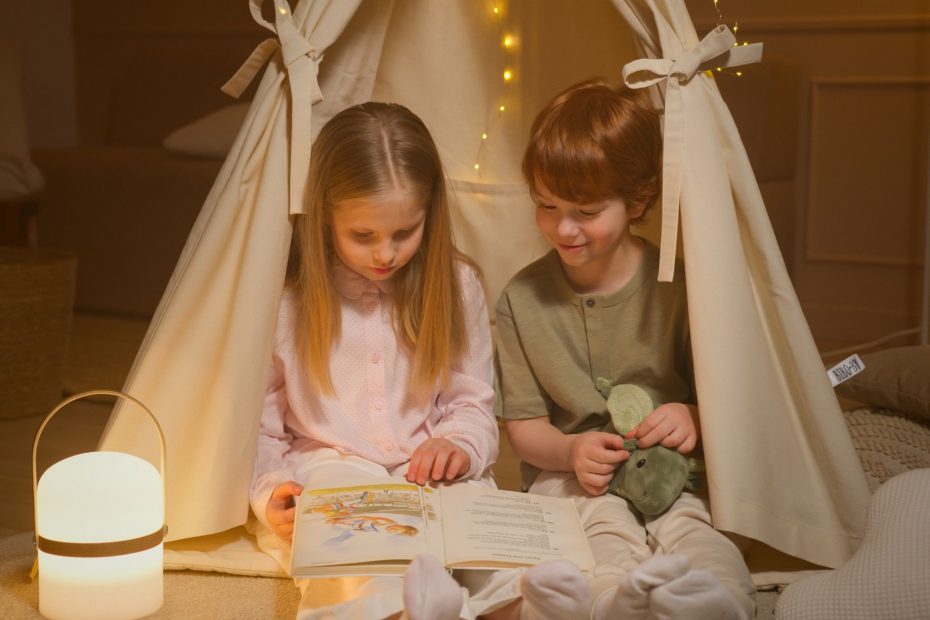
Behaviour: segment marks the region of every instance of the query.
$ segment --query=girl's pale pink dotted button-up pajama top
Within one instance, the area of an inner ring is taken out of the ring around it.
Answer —
[[[427,439],[444,437],[471,458],[464,478],[481,478],[494,462],[498,431],[487,305],[474,270],[460,262],[458,272],[468,354],[453,364],[444,389],[419,402],[407,395],[413,360],[394,333],[390,281],[373,282],[341,263],[334,268],[342,302],[342,336],[330,362],[334,396],[309,385],[295,348],[295,298],[284,293],[251,489],[252,509],[262,523],[268,525],[265,505],[274,487],[294,480],[297,467],[319,448],[392,470]]]

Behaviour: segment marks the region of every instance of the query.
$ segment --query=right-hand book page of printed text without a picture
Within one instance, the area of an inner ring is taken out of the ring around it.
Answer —
[[[466,484],[441,490],[447,566],[529,566],[564,558],[581,570],[594,567],[570,499]]]

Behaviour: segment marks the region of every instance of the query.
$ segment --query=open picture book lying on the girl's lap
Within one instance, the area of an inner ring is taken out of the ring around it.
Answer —
[[[507,568],[567,559],[594,566],[569,499],[465,483],[420,487],[375,478],[305,488],[297,501],[291,575],[400,574],[420,553],[447,568]]]

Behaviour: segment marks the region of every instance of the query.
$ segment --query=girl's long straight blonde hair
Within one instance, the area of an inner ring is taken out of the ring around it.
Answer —
[[[412,389],[443,385],[467,353],[465,311],[439,152],[426,126],[399,104],[368,102],[327,122],[313,145],[307,213],[298,216],[290,286],[297,346],[311,385],[332,395],[330,355],[342,333],[333,283],[332,210],[340,202],[404,189],[426,209],[423,239],[392,278],[395,332],[413,355]]]

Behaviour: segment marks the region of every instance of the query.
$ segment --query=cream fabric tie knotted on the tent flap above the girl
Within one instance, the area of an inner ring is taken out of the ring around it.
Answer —
[[[323,99],[318,81],[322,56],[300,34],[287,0],[274,0],[274,25],[262,17],[263,2],[264,0],[250,0],[252,18],[275,33],[277,38],[265,39],[259,43],[221,90],[231,97],[238,98],[255,79],[259,69],[265,66],[278,49],[281,50],[291,92],[288,212],[304,213],[304,192],[307,187],[307,173],[310,170],[313,104]]]

